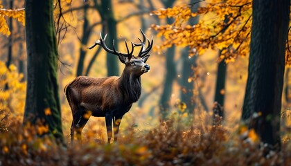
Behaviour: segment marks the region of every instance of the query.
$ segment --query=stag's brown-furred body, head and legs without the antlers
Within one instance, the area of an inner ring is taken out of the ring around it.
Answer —
[[[130,62],[135,62],[134,64]],[[79,76],[64,87],[67,100],[72,110],[73,122],[71,126],[71,142],[76,130],[77,136],[85,126],[87,118],[85,113],[91,116],[105,117],[107,123],[108,142],[110,142],[111,123],[110,118],[121,120],[123,115],[130,110],[132,103],[136,102],[141,95],[141,75],[148,72],[141,57],[132,57],[126,64],[121,77],[85,77]],[[114,132],[114,139],[117,137]],[[80,130],[80,131],[79,131]],[[80,137],[80,136],[79,136]],[[80,138],[78,138],[80,139]]]

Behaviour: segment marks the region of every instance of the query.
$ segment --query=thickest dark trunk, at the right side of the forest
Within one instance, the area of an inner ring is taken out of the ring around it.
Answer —
[[[242,120],[261,141],[280,145],[280,113],[290,1],[254,0]]]

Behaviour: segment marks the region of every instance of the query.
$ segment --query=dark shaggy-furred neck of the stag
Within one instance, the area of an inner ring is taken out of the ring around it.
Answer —
[[[139,100],[141,95],[141,76],[132,75],[129,69],[125,68],[119,86],[123,92],[125,103],[132,103]]]

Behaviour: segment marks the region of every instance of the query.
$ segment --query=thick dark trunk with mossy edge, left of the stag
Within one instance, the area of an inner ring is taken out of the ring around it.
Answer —
[[[43,122],[63,140],[53,0],[26,0],[27,91],[24,124]]]

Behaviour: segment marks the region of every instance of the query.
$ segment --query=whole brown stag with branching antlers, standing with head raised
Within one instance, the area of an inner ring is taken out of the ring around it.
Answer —
[[[120,77],[85,77],[79,76],[67,84],[64,88],[67,100],[73,114],[71,124],[71,144],[73,144],[74,133],[76,131],[78,140],[81,140],[82,129],[89,120],[90,116],[105,117],[107,128],[107,143],[112,140],[112,121],[114,126],[114,141],[117,140],[119,125],[121,119],[127,111],[130,111],[132,103],[139,100],[141,95],[141,75],[150,71],[150,66],[145,64],[153,44],[146,39],[141,30],[143,40],[140,43],[131,42],[132,50],[130,51],[125,40],[127,53],[118,52],[108,48],[105,44],[107,34],[104,39],[100,33],[100,39],[95,42],[89,49],[99,45],[108,53],[117,55],[119,60],[125,64],[125,68]],[[148,46],[146,46],[146,40]],[[132,55],[134,48],[141,47],[137,56]]]

